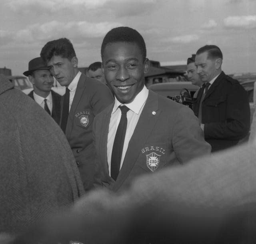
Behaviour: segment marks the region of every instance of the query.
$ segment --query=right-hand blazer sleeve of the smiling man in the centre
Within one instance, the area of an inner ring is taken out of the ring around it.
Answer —
[[[182,105],[174,121],[172,145],[180,163],[204,154],[210,154],[211,146],[204,141],[204,133],[193,111]]]

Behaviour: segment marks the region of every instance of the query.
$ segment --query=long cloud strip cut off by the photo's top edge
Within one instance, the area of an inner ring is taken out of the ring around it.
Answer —
[[[11,0],[8,6],[15,12],[28,14],[76,14],[78,11],[111,12],[114,16],[137,16],[155,8],[161,0]]]

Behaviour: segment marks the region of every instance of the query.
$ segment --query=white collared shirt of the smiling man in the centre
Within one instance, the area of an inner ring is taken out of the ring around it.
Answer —
[[[129,141],[138,123],[140,114],[144,108],[147,98],[148,98],[148,89],[144,85],[143,89],[138,93],[138,95],[134,98],[134,100],[131,103],[124,104],[130,110],[127,112],[127,128],[126,128],[126,134],[124,139],[122,158],[120,162],[120,169],[122,168],[122,165],[123,165],[124,156],[126,154]],[[115,103],[111,113],[110,123],[108,127],[107,157],[108,157],[109,175],[111,172],[110,167],[111,167],[112,148],[113,148],[114,139],[116,136],[117,127],[121,119],[121,110],[118,108],[119,105],[122,105],[122,103],[120,103],[120,101],[118,101],[115,97]]]

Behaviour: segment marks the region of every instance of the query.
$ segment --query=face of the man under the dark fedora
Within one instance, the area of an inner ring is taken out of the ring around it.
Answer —
[[[34,85],[34,89],[39,91],[50,91],[54,82],[53,76],[49,70],[35,70],[33,75],[29,75],[30,82]]]

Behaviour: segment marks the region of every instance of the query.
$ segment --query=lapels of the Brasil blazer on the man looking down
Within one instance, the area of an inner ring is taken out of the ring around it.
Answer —
[[[86,88],[86,76],[82,73],[80,76],[80,79],[78,81],[77,87],[76,87],[76,92],[74,95],[74,99],[72,101],[72,105],[70,107],[70,111],[68,114],[68,121],[67,121],[67,126],[66,126],[66,137],[69,138],[73,123],[74,123],[74,115],[76,113],[76,108],[79,104],[79,101],[84,93],[84,89]],[[62,99],[63,100],[63,99]],[[62,101],[62,107],[63,107],[63,101]]]

